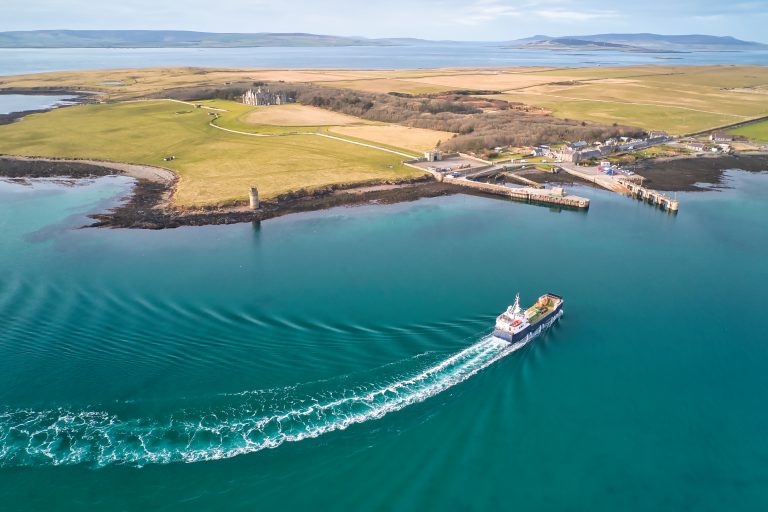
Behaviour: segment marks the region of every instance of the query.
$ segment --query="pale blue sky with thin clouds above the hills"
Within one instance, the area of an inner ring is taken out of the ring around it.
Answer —
[[[730,35],[768,43],[768,0],[3,0],[0,31],[165,29],[503,41]]]

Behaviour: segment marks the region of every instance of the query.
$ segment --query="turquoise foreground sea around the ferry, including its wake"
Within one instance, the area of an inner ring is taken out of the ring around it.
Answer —
[[[0,503],[765,510],[768,175],[730,182],[159,232],[75,229],[125,179],[0,183]],[[516,291],[566,314],[507,354]]]

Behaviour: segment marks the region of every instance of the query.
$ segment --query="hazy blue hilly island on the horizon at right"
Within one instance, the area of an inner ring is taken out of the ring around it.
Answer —
[[[695,50],[760,50],[768,45],[742,41],[730,36],[660,35],[660,34],[593,34],[586,36],[551,37],[536,35],[508,43],[514,48],[587,49],[597,45],[602,49],[626,51],[695,51]],[[604,46],[608,45],[608,46]],[[615,45],[615,46],[610,46]]]

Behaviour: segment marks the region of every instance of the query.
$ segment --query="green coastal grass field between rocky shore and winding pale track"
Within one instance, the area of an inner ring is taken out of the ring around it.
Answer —
[[[0,126],[0,153],[156,165],[180,179],[179,207],[231,204],[256,185],[263,198],[330,184],[421,173],[402,157],[315,135],[253,137],[208,125],[212,116],[170,101],[83,105]],[[163,157],[175,160],[164,162]]]

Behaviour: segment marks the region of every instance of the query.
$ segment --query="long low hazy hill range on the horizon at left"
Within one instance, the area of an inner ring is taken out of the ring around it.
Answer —
[[[254,46],[392,46],[406,40],[304,33],[212,33],[182,30],[32,30],[0,32],[0,48],[237,48]],[[410,40],[409,40],[410,41]]]

